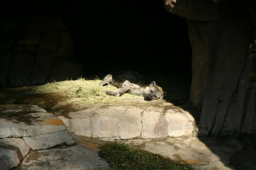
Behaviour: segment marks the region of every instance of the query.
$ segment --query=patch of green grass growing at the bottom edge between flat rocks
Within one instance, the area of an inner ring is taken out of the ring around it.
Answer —
[[[131,148],[124,143],[106,142],[99,148],[100,157],[108,161],[111,169],[193,170],[191,165],[178,163],[141,149]]]

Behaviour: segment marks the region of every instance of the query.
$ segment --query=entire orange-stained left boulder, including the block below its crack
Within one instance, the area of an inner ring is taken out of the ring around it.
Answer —
[[[32,149],[72,140],[65,124],[35,105],[0,105],[0,138],[23,137]]]

